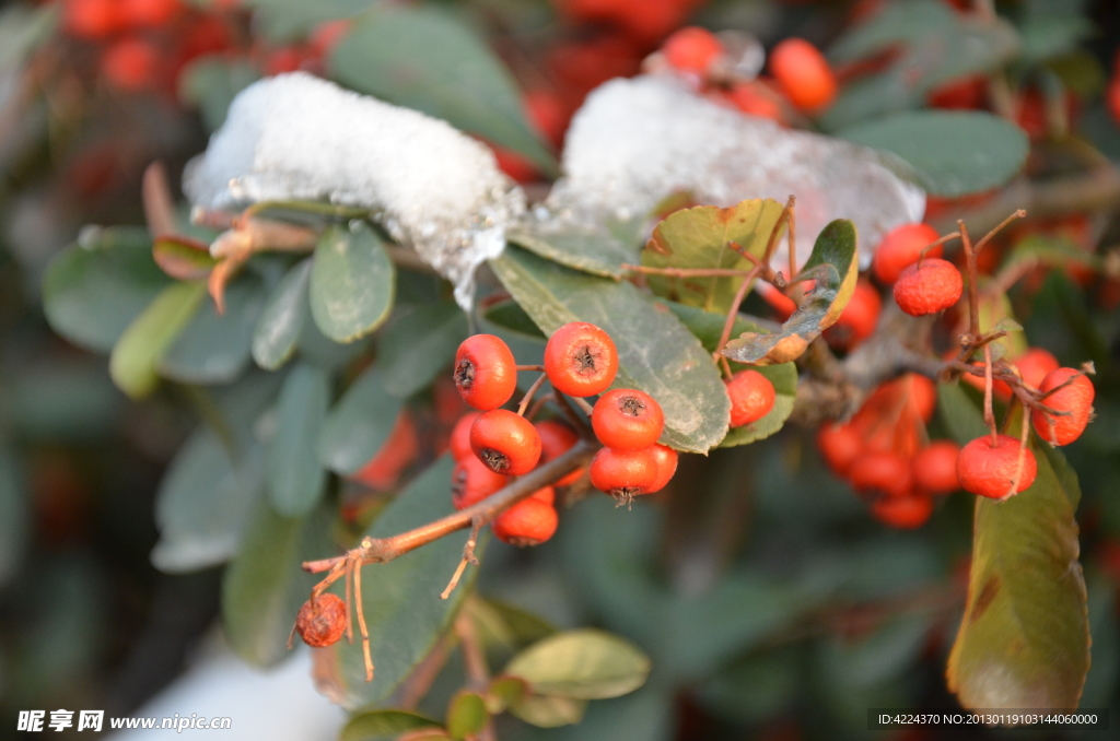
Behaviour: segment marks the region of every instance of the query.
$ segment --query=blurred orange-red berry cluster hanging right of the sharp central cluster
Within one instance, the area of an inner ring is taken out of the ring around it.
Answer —
[[[818,432],[829,468],[867,497],[872,516],[886,525],[920,527],[935,496],[960,488],[956,444],[925,439],[936,402],[933,382],[908,374],[876,388],[847,424]]]

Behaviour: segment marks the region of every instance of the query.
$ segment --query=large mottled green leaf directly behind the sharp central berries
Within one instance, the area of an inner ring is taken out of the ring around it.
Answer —
[[[730,400],[700,343],[671,312],[627,282],[595,278],[519,247],[491,261],[506,290],[545,334],[589,321],[618,348],[614,386],[641,388],[665,413],[662,442],[707,452],[727,433]]]

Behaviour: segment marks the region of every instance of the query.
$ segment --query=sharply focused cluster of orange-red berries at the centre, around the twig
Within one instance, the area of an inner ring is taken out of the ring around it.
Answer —
[[[591,484],[629,500],[669,482],[676,470],[676,451],[656,442],[664,415],[653,397],[633,388],[607,392],[617,372],[615,344],[595,325],[564,325],[544,347],[544,373],[557,392],[576,397],[603,394],[594,406],[591,426],[606,447],[591,462]],[[511,477],[529,473],[576,444],[576,431],[562,422],[534,424],[501,409],[516,391],[517,365],[500,338],[475,335],[464,340],[456,353],[454,378],[463,400],[478,410],[464,415],[451,432],[457,509],[482,501]],[[498,515],[494,534],[514,545],[536,545],[552,537],[558,525],[554,487],[570,486],[582,473],[573,471]]]

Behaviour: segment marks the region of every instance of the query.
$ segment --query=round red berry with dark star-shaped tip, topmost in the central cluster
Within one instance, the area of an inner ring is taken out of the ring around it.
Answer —
[[[594,396],[614,382],[618,351],[607,332],[573,321],[556,330],[544,346],[544,372],[557,391],[569,396]]]

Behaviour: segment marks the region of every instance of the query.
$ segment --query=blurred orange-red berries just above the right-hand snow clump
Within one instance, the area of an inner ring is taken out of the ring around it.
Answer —
[[[692,79],[715,100],[748,115],[786,120],[793,107],[819,115],[837,96],[837,78],[821,51],[809,41],[788,38],[769,53],[771,77],[735,79],[726,45],[711,31],[690,26],[675,31],[661,47],[665,64]]]

